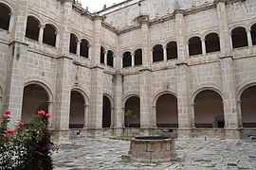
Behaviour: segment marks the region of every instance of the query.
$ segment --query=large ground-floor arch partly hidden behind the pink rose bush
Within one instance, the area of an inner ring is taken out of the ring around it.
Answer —
[[[52,113],[53,93],[45,82],[33,80],[24,84],[23,105],[21,119],[28,123],[37,110]],[[54,114],[53,114],[54,116]],[[51,126],[50,119],[49,126]]]

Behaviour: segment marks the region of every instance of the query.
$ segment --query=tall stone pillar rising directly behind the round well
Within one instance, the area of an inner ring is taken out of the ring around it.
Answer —
[[[140,127],[155,127],[152,112],[151,93],[151,53],[149,48],[149,23],[142,21],[142,68],[139,70],[139,93],[140,93]]]

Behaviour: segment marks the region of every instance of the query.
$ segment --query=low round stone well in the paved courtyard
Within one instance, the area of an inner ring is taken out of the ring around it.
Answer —
[[[175,161],[175,140],[168,137],[137,137],[131,140],[128,154],[133,161]]]

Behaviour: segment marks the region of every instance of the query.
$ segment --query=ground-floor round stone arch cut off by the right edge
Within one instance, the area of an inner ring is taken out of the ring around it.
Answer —
[[[256,80],[249,80],[242,83],[238,88],[238,121],[239,127],[256,127]]]

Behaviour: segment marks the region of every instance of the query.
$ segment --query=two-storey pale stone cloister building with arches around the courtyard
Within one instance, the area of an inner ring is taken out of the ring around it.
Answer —
[[[256,1],[0,0],[0,108],[52,113],[54,139],[256,131]]]

